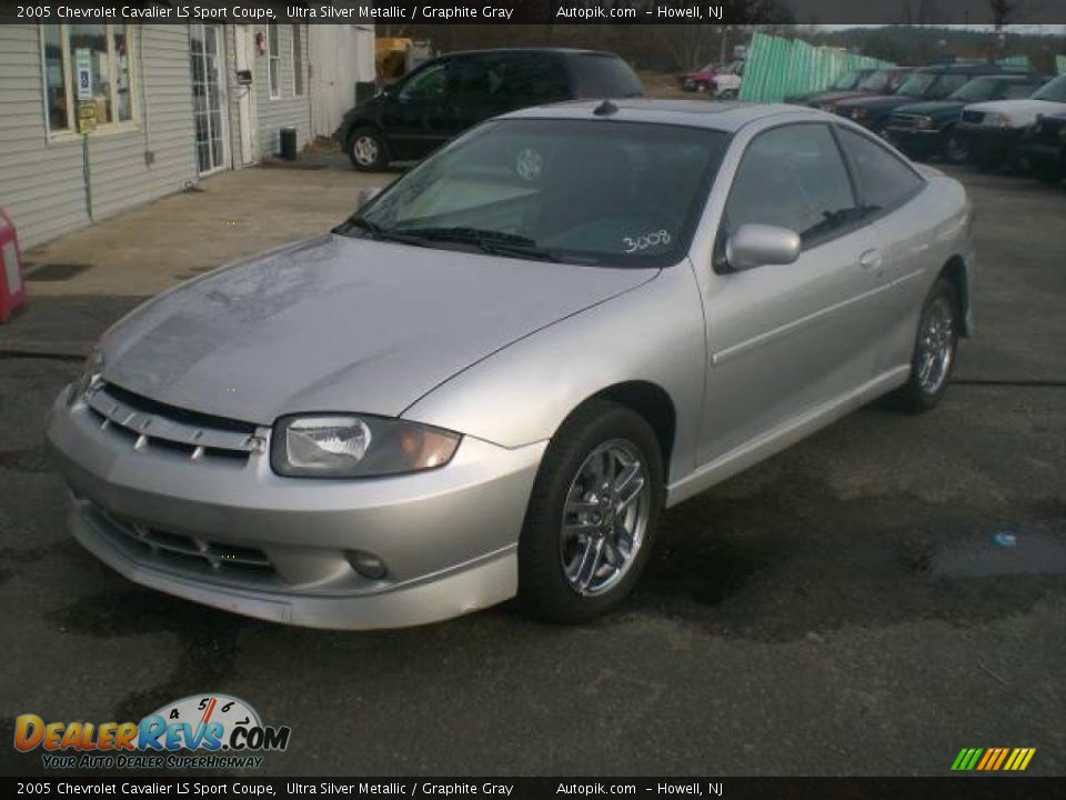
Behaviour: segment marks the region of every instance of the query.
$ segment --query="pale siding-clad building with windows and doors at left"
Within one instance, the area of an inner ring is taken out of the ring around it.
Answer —
[[[0,26],[0,207],[47,241],[330,136],[373,81],[372,26]]]

